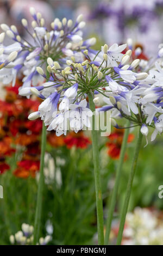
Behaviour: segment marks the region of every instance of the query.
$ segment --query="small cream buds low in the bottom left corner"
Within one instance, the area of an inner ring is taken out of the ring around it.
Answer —
[[[32,245],[33,244],[33,232],[34,227],[32,225],[23,223],[22,230],[10,235],[11,245]],[[47,245],[51,241],[52,237],[47,235],[45,238],[40,237],[37,245]]]

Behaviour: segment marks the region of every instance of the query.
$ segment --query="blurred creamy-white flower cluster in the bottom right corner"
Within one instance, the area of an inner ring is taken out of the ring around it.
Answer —
[[[122,245],[162,245],[162,213],[135,208],[126,217]]]

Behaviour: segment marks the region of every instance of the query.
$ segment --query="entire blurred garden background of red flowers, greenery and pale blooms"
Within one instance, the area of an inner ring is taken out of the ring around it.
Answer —
[[[32,21],[30,7],[45,17],[47,27],[55,17],[75,20],[82,13],[86,21],[84,38],[95,36],[95,48],[105,43],[123,44],[131,38],[135,48],[141,47],[141,58],[148,59],[158,53],[158,46],[163,42],[163,0],[0,0],[0,23],[16,25],[23,34],[22,18]],[[9,44],[8,40],[6,36],[6,45]],[[27,117],[40,102],[18,96],[19,86],[21,81],[17,81],[14,88],[1,87],[0,167],[4,168],[4,173],[0,175],[0,184],[4,187],[4,199],[0,199],[1,245],[11,243],[10,235],[20,230],[22,223],[33,225],[35,216],[38,180],[35,174],[39,170],[41,121],[28,121]],[[9,120],[9,127],[2,125],[6,120]],[[120,155],[123,133],[123,130],[112,129],[111,136],[102,137],[99,142],[104,221],[114,187],[116,160]],[[113,244],[136,134],[136,129],[130,131],[112,226]],[[13,138],[15,144],[11,143]],[[163,199],[158,197],[158,187],[163,185],[162,144],[162,137],[158,136],[153,144],[149,143],[148,147],[141,149],[129,205],[129,211],[134,213],[127,217],[123,243],[163,244]],[[97,243],[92,177],[90,134],[81,132],[77,136],[70,132],[66,137],[56,137],[54,132],[48,133],[41,235],[52,235],[52,245]],[[137,209],[137,206],[141,209]]]

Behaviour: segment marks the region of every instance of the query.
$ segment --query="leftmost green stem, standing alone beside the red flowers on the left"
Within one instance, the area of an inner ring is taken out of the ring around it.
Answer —
[[[43,184],[44,184],[43,167],[44,167],[45,149],[46,149],[46,126],[42,122],[40,178],[39,178],[36,212],[35,212],[34,245],[36,245],[37,241],[39,240],[39,232],[40,232],[42,196],[43,196]]]

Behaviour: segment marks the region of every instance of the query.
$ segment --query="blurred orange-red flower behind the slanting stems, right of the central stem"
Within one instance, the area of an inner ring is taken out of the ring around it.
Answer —
[[[109,142],[106,143],[108,147],[108,155],[112,159],[118,159],[120,157],[121,145],[124,136],[124,129],[116,129],[114,128],[114,132],[112,132],[108,138]],[[130,133],[128,136],[128,143],[132,142],[134,139],[133,133]],[[127,159],[127,155],[125,155],[124,159]]]

